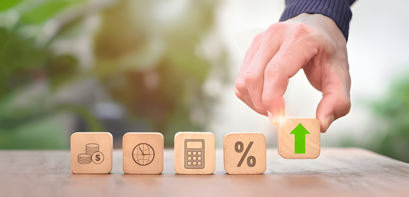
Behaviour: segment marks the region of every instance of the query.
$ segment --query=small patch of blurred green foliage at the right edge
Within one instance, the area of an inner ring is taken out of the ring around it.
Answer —
[[[384,97],[366,100],[363,105],[375,116],[367,128],[366,138],[345,138],[342,146],[366,148],[409,163],[409,79],[406,75],[397,76]]]

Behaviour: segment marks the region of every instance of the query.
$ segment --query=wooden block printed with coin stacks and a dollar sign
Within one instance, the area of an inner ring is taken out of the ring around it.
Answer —
[[[76,174],[107,174],[112,169],[110,133],[75,133],[71,136],[71,171]]]

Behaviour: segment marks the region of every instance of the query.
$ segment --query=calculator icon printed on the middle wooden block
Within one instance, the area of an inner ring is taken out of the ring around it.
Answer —
[[[205,140],[185,140],[185,168],[205,168]]]

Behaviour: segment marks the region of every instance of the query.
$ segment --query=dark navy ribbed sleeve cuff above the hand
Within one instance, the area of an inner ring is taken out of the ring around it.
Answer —
[[[349,8],[355,0],[285,0],[285,10],[280,21],[301,13],[322,14],[335,21],[335,24],[348,40],[349,21],[352,17]]]

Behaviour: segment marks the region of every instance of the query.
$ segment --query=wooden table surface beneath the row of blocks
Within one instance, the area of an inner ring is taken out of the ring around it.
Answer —
[[[286,160],[267,149],[267,170],[230,175],[216,150],[211,175],[180,175],[173,149],[163,174],[122,171],[113,151],[110,174],[72,174],[69,150],[0,150],[0,196],[409,196],[409,164],[357,148],[323,148],[313,160]]]

